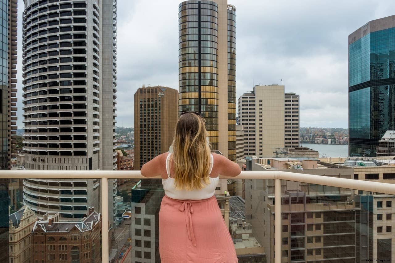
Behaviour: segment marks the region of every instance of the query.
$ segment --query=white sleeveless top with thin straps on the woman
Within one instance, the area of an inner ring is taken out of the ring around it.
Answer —
[[[165,194],[167,197],[173,198],[173,199],[179,199],[179,200],[200,200],[200,199],[207,199],[210,198],[214,195],[215,193],[215,188],[218,185],[219,182],[219,176],[212,178],[209,177],[210,184],[207,184],[204,188],[200,190],[176,190],[175,185],[174,185],[174,178],[170,177],[170,155],[171,153],[167,154],[166,157],[166,172],[167,172],[167,178],[162,179],[162,184],[163,184],[163,189],[165,190]],[[211,174],[211,170],[213,170],[213,163],[214,163],[214,158],[213,154],[210,154],[210,169],[209,169],[209,174]]]

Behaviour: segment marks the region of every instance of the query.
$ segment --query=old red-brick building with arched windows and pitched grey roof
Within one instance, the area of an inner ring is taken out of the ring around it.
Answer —
[[[91,207],[81,220],[60,220],[59,213],[47,213],[32,228],[32,262],[99,263],[102,218]]]

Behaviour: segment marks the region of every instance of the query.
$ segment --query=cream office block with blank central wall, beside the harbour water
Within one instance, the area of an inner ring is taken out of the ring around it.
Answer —
[[[278,84],[255,85],[239,97],[239,123],[245,156],[272,157],[273,148],[298,147],[299,95]]]

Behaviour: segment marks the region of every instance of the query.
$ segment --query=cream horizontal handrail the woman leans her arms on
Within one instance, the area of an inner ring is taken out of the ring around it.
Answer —
[[[67,179],[160,179],[157,177],[143,177],[140,171],[38,171],[38,170],[4,170],[0,171],[0,178],[67,178]],[[280,179],[308,184],[320,184],[367,192],[395,195],[395,184],[372,182],[348,178],[337,178],[325,175],[308,175],[288,171],[242,171],[237,177],[220,175],[220,179]]]

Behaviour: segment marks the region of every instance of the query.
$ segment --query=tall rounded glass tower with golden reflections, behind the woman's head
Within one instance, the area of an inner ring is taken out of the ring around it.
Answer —
[[[236,160],[236,8],[227,0],[179,5],[179,112],[206,119],[212,150]]]

